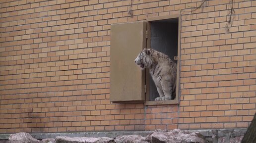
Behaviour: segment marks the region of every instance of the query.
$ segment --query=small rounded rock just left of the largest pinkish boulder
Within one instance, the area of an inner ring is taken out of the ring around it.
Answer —
[[[139,135],[128,135],[128,136],[118,136],[115,139],[116,143],[148,143],[145,141],[145,137]]]

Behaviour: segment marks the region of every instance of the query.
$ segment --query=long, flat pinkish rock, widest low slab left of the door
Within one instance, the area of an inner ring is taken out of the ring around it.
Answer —
[[[70,138],[70,137],[56,137],[55,143],[115,143],[113,138]]]

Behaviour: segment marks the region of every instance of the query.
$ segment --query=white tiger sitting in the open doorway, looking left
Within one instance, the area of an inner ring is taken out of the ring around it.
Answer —
[[[152,48],[144,48],[134,61],[143,70],[149,68],[160,97],[157,100],[171,100],[176,97],[177,64],[166,54]]]

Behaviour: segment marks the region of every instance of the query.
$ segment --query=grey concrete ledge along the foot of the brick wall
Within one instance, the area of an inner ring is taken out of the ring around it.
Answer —
[[[247,129],[208,129],[208,130],[189,130],[201,133],[204,137],[237,137],[244,135]],[[68,137],[109,137],[116,138],[123,135],[147,136],[152,131],[109,131],[109,132],[68,132],[68,133],[30,133],[35,139],[56,138],[57,136]],[[0,140],[8,140],[10,134],[0,134]]]

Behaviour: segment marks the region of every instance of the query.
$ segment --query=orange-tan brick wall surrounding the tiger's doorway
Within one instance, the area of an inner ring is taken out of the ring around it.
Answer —
[[[256,112],[256,1],[1,0],[0,133],[246,128]],[[110,25],[182,11],[178,105],[111,103]]]

